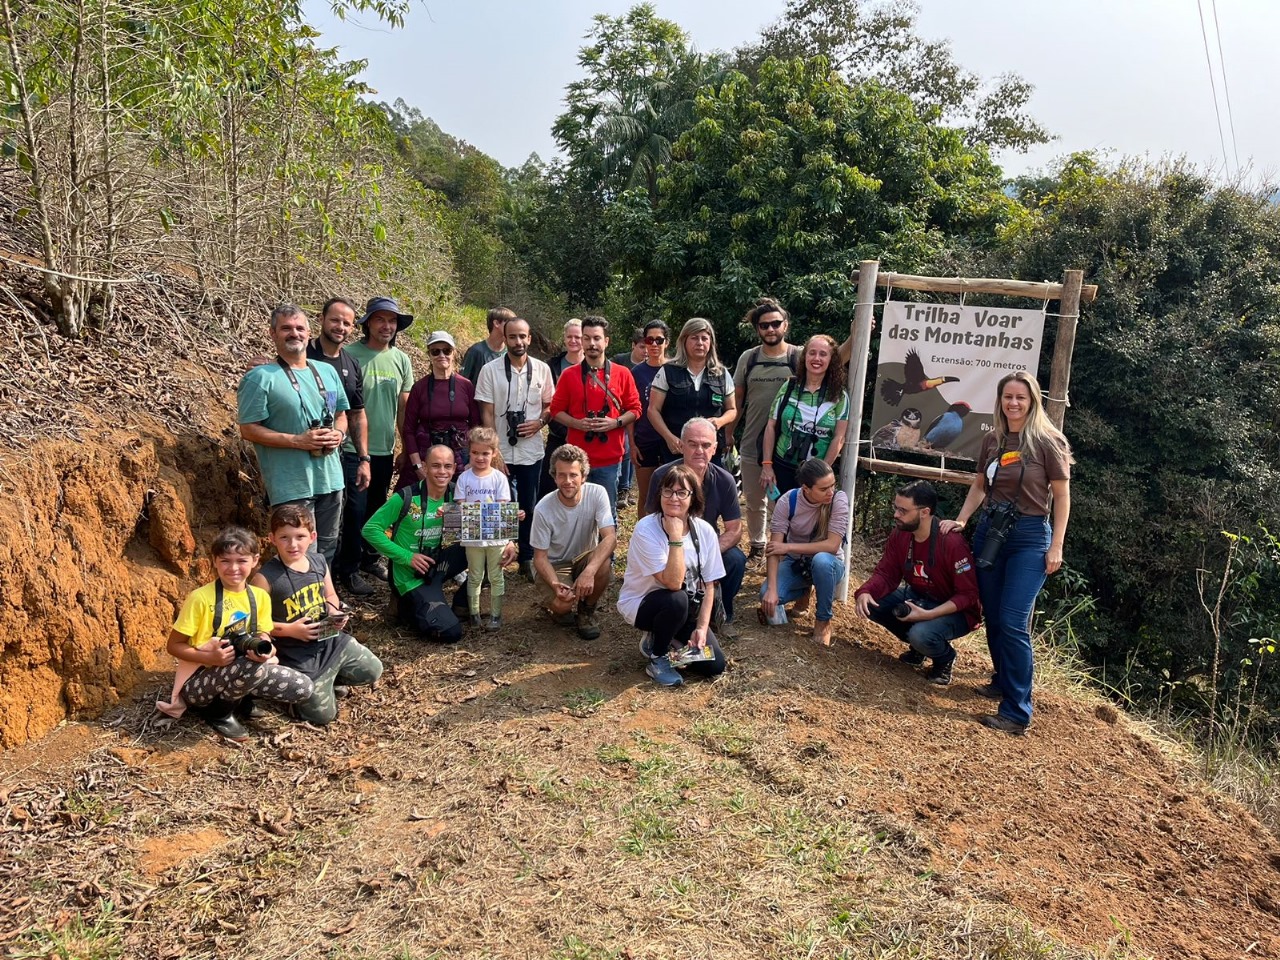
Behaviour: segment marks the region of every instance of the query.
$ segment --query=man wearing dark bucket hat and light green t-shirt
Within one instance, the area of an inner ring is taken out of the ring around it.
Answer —
[[[349,593],[372,593],[361,573],[387,579],[387,561],[369,547],[360,535],[365,521],[387,503],[396,465],[396,425],[404,413],[410,388],[413,385],[413,365],[396,346],[396,335],[413,323],[410,314],[401,312],[399,303],[390,297],[374,297],[365,305],[360,319],[364,330],[357,343],[347,347],[347,353],[360,364],[365,381],[365,420],[370,458],[369,489],[357,483],[360,457],[351,440],[343,444],[342,466],[347,480],[347,506],[343,513],[342,544],[335,564],[338,582]]]

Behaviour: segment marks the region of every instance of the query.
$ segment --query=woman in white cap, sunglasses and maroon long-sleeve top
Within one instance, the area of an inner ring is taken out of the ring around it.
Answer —
[[[404,407],[404,466],[396,489],[424,476],[426,452],[434,444],[453,451],[454,476],[467,465],[467,430],[480,422],[475,385],[457,372],[457,344],[444,330],[426,342],[431,372],[413,384]]]

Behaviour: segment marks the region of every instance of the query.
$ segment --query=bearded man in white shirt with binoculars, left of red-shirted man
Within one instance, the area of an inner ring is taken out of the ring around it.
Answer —
[[[556,387],[552,370],[529,356],[529,323],[513,317],[506,325],[507,356],[484,365],[476,383],[480,420],[498,431],[498,448],[507,474],[516,488],[516,502],[525,511],[520,521],[520,572],[532,584],[534,548],[529,531],[534,526],[534,507],[543,471],[543,428],[550,420]]]

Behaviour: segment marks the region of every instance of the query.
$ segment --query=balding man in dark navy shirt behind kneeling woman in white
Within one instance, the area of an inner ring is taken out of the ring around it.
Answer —
[[[737,545],[742,539],[742,511],[737,506],[737,484],[733,475],[724,467],[712,463],[716,456],[716,426],[705,417],[689,420],[680,431],[680,460],[658,467],[649,481],[648,513],[660,513],[659,495],[662,479],[676,463],[684,463],[694,471],[703,489],[703,512],[705,520],[719,535],[721,559],[724,561],[724,576],[716,585],[716,604],[723,607],[723,621],[716,623],[717,636],[733,640],[737,630],[733,627],[733,600],[742,589],[746,575],[746,556]],[[721,524],[723,522],[723,527]]]

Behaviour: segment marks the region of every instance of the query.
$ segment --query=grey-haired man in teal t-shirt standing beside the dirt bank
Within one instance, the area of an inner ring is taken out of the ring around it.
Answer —
[[[316,548],[333,562],[342,522],[347,392],[328,364],[307,360],[311,329],[293,303],[271,311],[275,360],[253,367],[236,390],[241,436],[253,444],[268,500],[297,503],[316,521]]]

